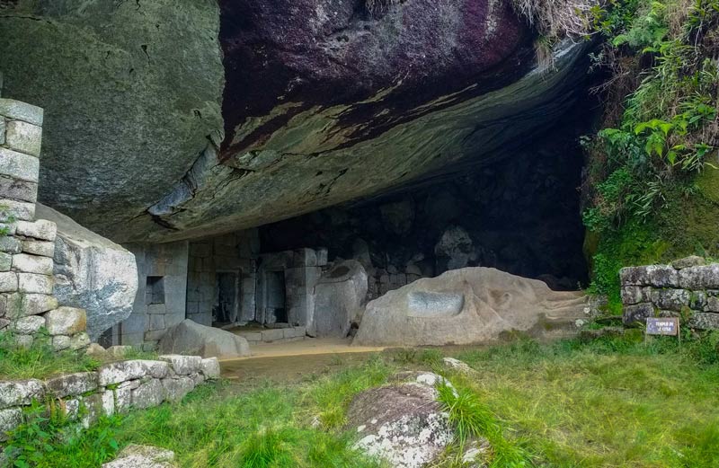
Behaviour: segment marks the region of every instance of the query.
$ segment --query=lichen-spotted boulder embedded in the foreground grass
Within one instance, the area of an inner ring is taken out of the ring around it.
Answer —
[[[373,388],[354,397],[347,411],[355,447],[386,460],[394,468],[420,468],[434,461],[454,439],[448,414],[437,402],[435,386],[445,382],[432,373]]]

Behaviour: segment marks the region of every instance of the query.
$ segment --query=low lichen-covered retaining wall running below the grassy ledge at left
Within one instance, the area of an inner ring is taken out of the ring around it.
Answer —
[[[96,372],[46,381],[0,382],[0,442],[23,422],[23,408],[41,402],[88,428],[102,415],[177,402],[195,386],[219,377],[217,358],[161,356],[106,364]]]

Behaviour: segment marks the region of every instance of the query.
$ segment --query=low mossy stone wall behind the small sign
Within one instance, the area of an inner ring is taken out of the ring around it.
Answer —
[[[691,328],[719,330],[719,263],[688,257],[671,265],[625,268],[619,276],[625,325],[688,316]]]

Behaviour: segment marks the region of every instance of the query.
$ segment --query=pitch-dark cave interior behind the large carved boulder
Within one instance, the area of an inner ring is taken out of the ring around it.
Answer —
[[[368,300],[476,266],[560,291],[586,286],[580,136],[590,122],[582,105],[510,157],[505,150],[392,193],[262,225],[261,252],[323,246],[330,262],[358,260]]]

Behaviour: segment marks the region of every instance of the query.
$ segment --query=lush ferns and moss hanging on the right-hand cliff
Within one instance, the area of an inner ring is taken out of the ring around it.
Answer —
[[[610,73],[603,129],[586,141],[593,292],[618,312],[623,266],[714,256],[719,234],[719,1],[611,1],[592,12]]]

